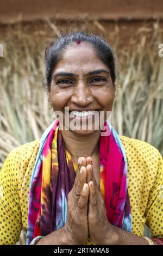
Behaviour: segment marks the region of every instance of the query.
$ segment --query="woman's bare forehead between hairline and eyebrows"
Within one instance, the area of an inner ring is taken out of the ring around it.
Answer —
[[[97,57],[93,47],[81,42],[81,44],[74,44],[67,47],[62,58],[55,66],[53,74],[62,71],[81,74],[97,69],[105,69],[109,71],[108,66]]]

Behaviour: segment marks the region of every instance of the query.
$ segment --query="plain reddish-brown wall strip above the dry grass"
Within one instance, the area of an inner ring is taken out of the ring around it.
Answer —
[[[0,23],[87,17],[99,20],[163,20],[162,0],[0,0]]]

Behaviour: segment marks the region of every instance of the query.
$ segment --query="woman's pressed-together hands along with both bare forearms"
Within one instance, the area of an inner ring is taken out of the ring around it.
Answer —
[[[82,245],[90,237],[96,245],[148,245],[143,237],[112,225],[97,187],[91,157],[79,157],[78,173],[68,193],[64,227],[40,239],[36,245]]]

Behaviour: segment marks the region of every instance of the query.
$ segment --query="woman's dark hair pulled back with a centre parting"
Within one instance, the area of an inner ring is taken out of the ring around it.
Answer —
[[[86,34],[83,32],[76,32],[60,36],[51,46],[47,47],[45,52],[45,62],[46,62],[46,85],[48,89],[51,86],[52,81],[52,71],[62,57],[62,54],[66,48],[72,45],[74,42],[86,42],[90,44],[97,54],[97,57],[102,60],[102,62],[108,66],[111,72],[112,83],[115,84],[115,60],[112,49],[108,42],[106,42],[100,36],[94,34]]]

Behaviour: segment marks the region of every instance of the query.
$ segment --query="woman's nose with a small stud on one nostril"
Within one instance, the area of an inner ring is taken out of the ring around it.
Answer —
[[[90,101],[87,100],[89,97]],[[71,101],[80,106],[85,106],[91,102],[90,89],[87,87],[84,81],[78,82],[74,88],[74,93],[71,97]]]

